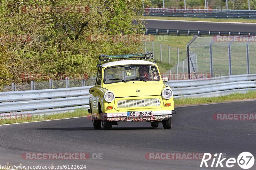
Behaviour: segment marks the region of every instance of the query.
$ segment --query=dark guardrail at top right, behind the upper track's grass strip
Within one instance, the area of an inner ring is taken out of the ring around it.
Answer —
[[[144,15],[166,17],[198,18],[247,18],[256,19],[256,10],[185,10],[165,8],[145,8]]]

